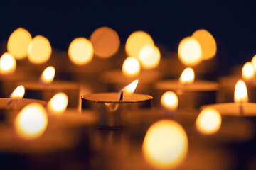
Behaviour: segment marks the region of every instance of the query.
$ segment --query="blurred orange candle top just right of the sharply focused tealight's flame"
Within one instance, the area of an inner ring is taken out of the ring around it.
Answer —
[[[159,81],[155,84],[159,90],[182,90],[182,91],[216,91],[218,83],[213,81],[196,80],[191,84],[181,84],[178,80]]]

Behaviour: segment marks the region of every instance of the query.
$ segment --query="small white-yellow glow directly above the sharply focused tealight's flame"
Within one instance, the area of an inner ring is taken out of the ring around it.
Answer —
[[[140,72],[140,64],[137,58],[127,57],[122,65],[122,72],[129,77],[137,76]]]

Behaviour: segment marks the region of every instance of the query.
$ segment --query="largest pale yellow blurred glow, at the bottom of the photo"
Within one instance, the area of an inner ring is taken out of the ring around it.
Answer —
[[[176,168],[188,152],[188,137],[174,120],[160,120],[146,132],[142,149],[152,166],[158,169]]]

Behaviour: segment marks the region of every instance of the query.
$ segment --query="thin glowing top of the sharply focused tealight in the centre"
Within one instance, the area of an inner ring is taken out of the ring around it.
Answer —
[[[153,97],[146,94],[124,94],[123,101],[119,101],[118,93],[85,94],[82,100],[102,103],[129,103],[151,100]]]

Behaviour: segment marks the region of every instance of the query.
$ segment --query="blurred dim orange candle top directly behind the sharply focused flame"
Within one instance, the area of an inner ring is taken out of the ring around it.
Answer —
[[[102,80],[104,82],[113,84],[128,84],[134,81],[134,79],[139,79],[140,84],[146,84],[152,83],[160,78],[160,73],[156,71],[140,72],[139,75],[134,77],[127,77],[118,69],[110,70],[102,74]]]

